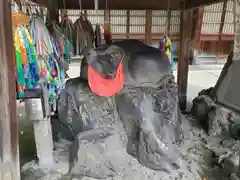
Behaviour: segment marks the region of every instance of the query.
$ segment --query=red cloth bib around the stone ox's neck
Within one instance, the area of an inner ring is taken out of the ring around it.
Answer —
[[[122,58],[123,60],[123,58]],[[124,72],[120,61],[115,79],[106,79],[88,65],[88,85],[92,92],[99,96],[115,96],[124,87]]]

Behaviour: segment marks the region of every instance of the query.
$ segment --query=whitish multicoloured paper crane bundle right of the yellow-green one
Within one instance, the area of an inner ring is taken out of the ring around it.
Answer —
[[[48,100],[52,103],[65,82],[65,72],[60,59],[63,59],[61,57],[65,54],[71,59],[71,44],[63,38],[55,25],[50,28],[50,32],[40,17],[32,18],[31,34],[36,46],[39,83],[47,82]]]

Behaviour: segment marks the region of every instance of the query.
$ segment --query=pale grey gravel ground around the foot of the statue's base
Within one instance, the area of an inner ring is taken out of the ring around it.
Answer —
[[[21,117],[24,117],[22,114]],[[208,137],[203,130],[196,126],[196,121],[191,116],[186,116],[182,126],[181,141],[179,148],[181,151],[181,167],[179,170],[167,174],[161,171],[153,171],[143,167],[132,156],[126,155],[127,160],[121,172],[114,178],[106,180],[201,180],[207,175],[205,169],[209,169],[211,163],[211,152],[205,148]],[[24,134],[24,132],[23,132]],[[68,147],[70,143],[61,140],[55,144],[54,151],[55,164],[51,167],[39,167],[35,161],[22,166],[23,180],[96,180],[89,177],[73,178],[67,176],[68,172]],[[217,180],[219,178],[209,177],[207,180]]]

